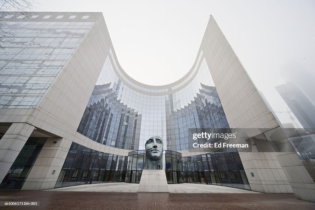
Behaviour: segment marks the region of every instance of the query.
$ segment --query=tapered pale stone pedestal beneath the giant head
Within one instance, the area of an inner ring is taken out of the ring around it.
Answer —
[[[164,170],[144,169],[138,192],[169,192]]]

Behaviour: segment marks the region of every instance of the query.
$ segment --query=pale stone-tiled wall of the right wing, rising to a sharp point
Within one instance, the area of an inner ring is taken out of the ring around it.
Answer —
[[[203,50],[231,128],[260,128],[259,132],[262,133],[279,127],[212,16],[210,16],[200,50]],[[249,131],[248,136],[258,135],[257,131],[258,129]],[[301,166],[301,160],[297,154],[292,155],[299,164],[292,165],[291,170],[284,170],[285,165],[280,160],[287,158],[286,155],[281,158],[276,152],[240,153],[251,189],[259,192],[287,193],[292,192],[292,188],[295,188],[295,195],[299,198],[315,201],[314,197],[301,196],[306,191],[315,195],[315,185],[314,183],[310,185],[309,179],[305,182],[301,179],[299,183],[291,182],[295,174],[288,171],[296,171],[293,168]],[[250,175],[250,172],[254,173],[254,177]],[[304,171],[299,171],[303,174],[302,176],[310,178],[309,174],[305,172],[305,168]],[[306,187],[307,189],[303,189],[306,183],[309,186]],[[310,190],[311,188],[313,190]]]

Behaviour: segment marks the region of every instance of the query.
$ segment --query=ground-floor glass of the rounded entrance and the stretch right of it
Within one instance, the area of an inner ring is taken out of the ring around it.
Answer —
[[[145,159],[145,150],[129,153],[125,182],[140,182]],[[214,184],[250,190],[237,152],[182,157],[180,152],[166,150],[163,159],[168,184]]]

